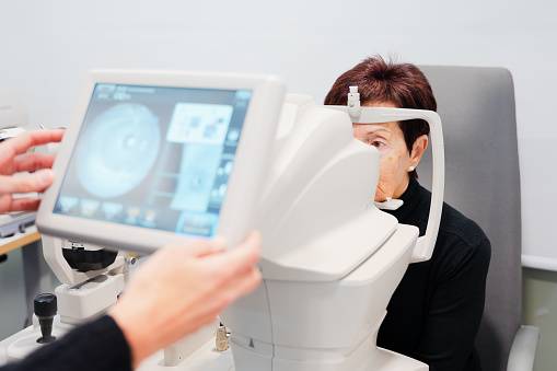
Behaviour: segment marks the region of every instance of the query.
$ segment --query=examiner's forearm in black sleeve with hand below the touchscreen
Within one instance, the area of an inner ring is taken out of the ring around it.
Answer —
[[[1,371],[131,370],[217,315],[260,280],[260,237],[166,246],[135,270],[114,310]]]

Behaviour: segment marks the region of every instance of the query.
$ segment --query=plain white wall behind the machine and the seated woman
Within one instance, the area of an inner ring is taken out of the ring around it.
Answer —
[[[33,127],[54,127],[67,124],[90,68],[267,72],[322,101],[336,77],[375,53],[506,67],[515,81],[524,253],[550,256],[542,264],[557,269],[548,194],[556,11],[549,0],[0,0],[0,86],[21,92]]]

